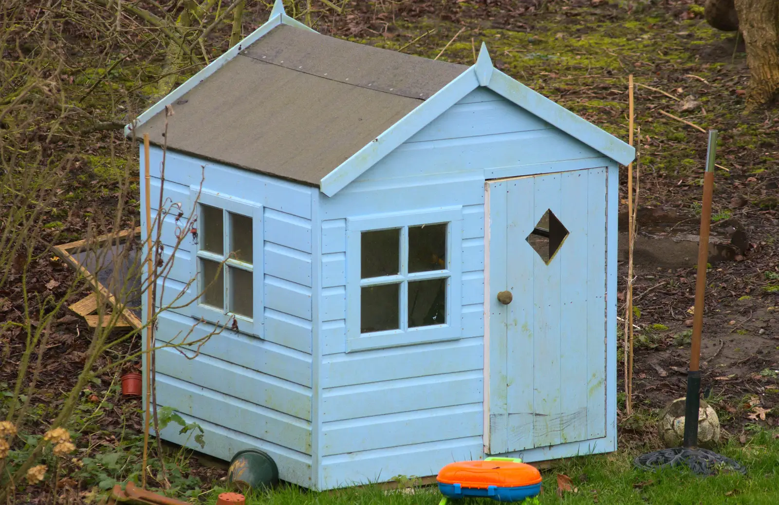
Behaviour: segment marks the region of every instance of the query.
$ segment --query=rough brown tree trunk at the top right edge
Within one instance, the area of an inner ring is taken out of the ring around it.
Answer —
[[[735,0],[735,9],[752,74],[747,96],[750,110],[779,93],[779,1]]]

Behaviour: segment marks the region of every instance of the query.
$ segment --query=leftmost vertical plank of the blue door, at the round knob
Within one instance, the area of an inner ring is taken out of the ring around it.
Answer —
[[[506,408],[506,305],[497,300],[506,290],[506,182],[489,188],[489,286],[485,303],[489,308],[489,452],[507,452],[508,411]]]

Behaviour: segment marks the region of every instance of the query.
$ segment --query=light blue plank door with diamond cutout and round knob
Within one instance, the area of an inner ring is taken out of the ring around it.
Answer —
[[[489,454],[605,436],[606,184],[487,184]]]

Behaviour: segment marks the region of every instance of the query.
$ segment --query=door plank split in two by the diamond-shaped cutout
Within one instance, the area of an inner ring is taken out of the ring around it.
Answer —
[[[533,224],[547,209],[560,214],[560,175],[534,178]],[[560,443],[560,258],[547,265],[534,254],[534,426],[535,447]]]

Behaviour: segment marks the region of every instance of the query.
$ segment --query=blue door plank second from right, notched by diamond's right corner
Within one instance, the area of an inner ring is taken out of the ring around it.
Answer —
[[[568,230],[560,263],[560,401],[562,442],[587,440],[587,172],[563,172],[560,222]],[[601,338],[601,334],[592,335]],[[603,355],[596,356],[603,362]]]

